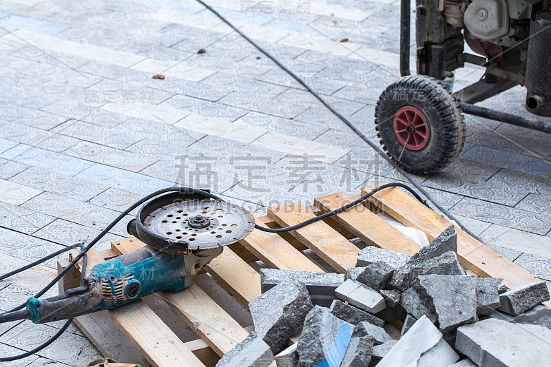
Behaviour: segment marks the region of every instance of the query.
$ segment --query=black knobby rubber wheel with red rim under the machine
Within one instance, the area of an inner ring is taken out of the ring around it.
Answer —
[[[389,85],[375,107],[375,129],[386,154],[412,174],[443,169],[465,143],[457,101],[429,76],[404,76]]]

